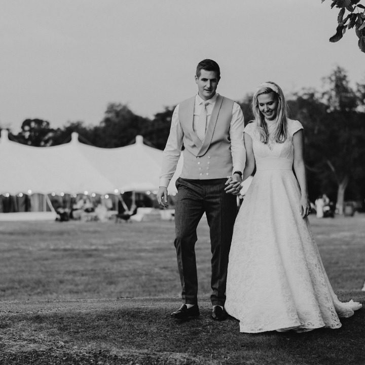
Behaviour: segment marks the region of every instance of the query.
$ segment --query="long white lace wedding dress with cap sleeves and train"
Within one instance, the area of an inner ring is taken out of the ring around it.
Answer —
[[[275,121],[268,122],[273,135]],[[240,331],[297,332],[341,327],[361,304],[341,303],[325,273],[308,222],[300,214],[300,188],[293,173],[293,135],[302,129],[288,120],[284,143],[252,138],[257,166],[237,215],[229,255],[225,309]]]

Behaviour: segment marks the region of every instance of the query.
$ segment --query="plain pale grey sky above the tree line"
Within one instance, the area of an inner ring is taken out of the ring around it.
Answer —
[[[337,66],[365,81],[354,29],[326,0],[0,0],[0,128],[98,125],[109,102],[152,118],[197,91],[202,59],[236,101],[265,81],[289,95]]]

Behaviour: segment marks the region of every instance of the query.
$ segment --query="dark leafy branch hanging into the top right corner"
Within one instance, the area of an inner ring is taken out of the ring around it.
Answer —
[[[322,3],[324,0],[322,0]],[[355,28],[358,37],[358,47],[365,52],[365,6],[359,4],[360,0],[332,0],[331,9],[341,9],[337,17],[338,26],[336,34],[330,38],[330,42],[338,42],[345,34],[346,29]],[[346,10],[348,14],[345,16]]]

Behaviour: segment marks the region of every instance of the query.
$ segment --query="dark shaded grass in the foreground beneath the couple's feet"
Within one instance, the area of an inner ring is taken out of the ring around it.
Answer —
[[[357,293],[352,297],[364,302],[365,293]],[[200,317],[188,320],[170,318],[174,309],[176,303],[124,306],[121,301],[118,309],[5,316],[0,327],[8,340],[0,363],[364,363],[364,309],[343,319],[339,330],[303,334],[243,334],[234,318],[213,321],[207,302]],[[24,342],[22,350],[12,347],[11,336]]]

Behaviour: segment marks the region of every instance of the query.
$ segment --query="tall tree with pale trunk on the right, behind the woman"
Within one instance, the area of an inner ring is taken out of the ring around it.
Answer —
[[[336,187],[342,214],[348,185],[363,184],[365,179],[365,113],[357,110],[360,100],[343,68],[337,67],[325,78],[325,85],[322,94],[307,92],[298,97],[294,114],[306,127],[309,171],[320,178],[322,187]]]

